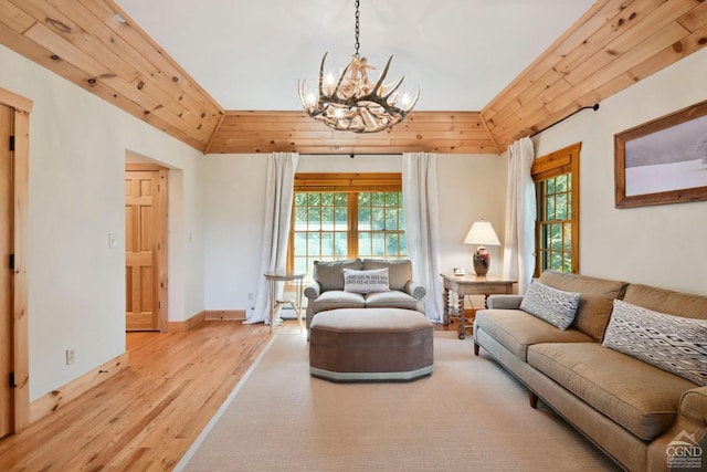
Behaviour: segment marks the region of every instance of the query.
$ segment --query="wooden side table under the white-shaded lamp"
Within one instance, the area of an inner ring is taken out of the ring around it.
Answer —
[[[444,285],[444,293],[442,295],[444,325],[447,326],[450,319],[458,319],[460,339],[464,339],[466,329],[474,327],[473,321],[467,324],[466,316],[464,315],[464,298],[466,295],[486,295],[487,298],[488,295],[497,293],[510,294],[513,293],[513,284],[516,283],[516,281],[478,275],[440,274],[440,276],[442,276],[442,284]],[[451,292],[456,293],[456,307],[450,306],[452,302]]]

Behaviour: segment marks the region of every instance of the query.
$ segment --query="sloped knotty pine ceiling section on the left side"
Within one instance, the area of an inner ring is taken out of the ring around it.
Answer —
[[[205,151],[224,111],[113,1],[2,0],[0,42]]]

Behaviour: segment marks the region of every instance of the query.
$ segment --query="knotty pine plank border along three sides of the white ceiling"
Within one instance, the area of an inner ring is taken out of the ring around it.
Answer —
[[[487,154],[707,45],[707,1],[599,0],[481,112],[415,111],[366,135],[225,112],[113,0],[2,0],[0,43],[204,154]]]

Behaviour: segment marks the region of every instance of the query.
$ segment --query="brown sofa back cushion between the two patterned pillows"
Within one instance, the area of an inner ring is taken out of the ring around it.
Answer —
[[[580,293],[572,327],[599,342],[609,324],[614,298],[621,297],[627,285],[625,282],[555,271],[542,272],[539,281],[553,289]]]

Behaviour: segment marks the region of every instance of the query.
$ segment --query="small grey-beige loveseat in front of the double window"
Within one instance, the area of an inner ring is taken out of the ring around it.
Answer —
[[[357,293],[345,290],[344,271],[388,270],[389,290]],[[305,289],[307,329],[318,312],[338,308],[403,308],[424,313],[424,286],[412,280],[409,260],[354,259],[315,261],[314,281]]]

